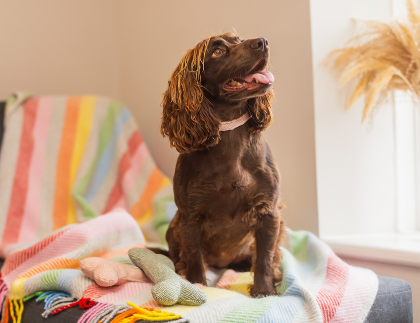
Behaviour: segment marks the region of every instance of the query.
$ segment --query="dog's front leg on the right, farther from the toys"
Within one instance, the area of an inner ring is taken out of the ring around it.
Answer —
[[[255,229],[256,260],[254,266],[254,284],[251,296],[274,294],[274,255],[280,231],[280,219],[277,215],[261,215]]]

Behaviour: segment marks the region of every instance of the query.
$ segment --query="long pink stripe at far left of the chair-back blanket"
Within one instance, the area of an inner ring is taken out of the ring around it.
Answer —
[[[19,242],[26,243],[36,239],[37,225],[41,210],[41,185],[44,173],[45,144],[48,135],[53,99],[40,98],[38,114],[33,130],[34,151],[29,167],[29,187],[23,212]]]

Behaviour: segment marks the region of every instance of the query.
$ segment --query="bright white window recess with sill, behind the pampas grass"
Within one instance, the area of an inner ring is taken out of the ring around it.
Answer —
[[[396,93],[372,127],[360,125],[362,100],[344,111],[350,88],[340,89],[322,64],[355,34],[360,24],[352,17],[390,21],[405,6],[311,2],[318,223],[320,237],[341,256],[420,267],[419,108]]]

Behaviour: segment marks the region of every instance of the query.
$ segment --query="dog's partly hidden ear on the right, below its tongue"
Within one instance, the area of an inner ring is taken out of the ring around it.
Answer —
[[[264,131],[273,121],[271,102],[274,98],[273,90],[263,96],[248,100],[248,108],[251,112],[251,132]]]

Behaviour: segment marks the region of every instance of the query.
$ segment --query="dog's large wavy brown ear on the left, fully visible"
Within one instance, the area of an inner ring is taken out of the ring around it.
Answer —
[[[185,53],[163,96],[161,133],[180,153],[214,146],[220,139],[220,120],[200,84],[209,40]]]

